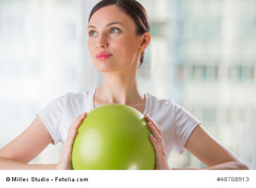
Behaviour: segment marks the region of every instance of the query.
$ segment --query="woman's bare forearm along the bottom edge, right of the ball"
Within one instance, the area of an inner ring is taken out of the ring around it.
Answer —
[[[241,162],[224,162],[207,168],[172,168],[172,170],[248,170]]]

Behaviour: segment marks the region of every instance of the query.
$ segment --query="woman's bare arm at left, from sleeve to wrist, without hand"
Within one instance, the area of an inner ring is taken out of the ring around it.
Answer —
[[[0,150],[0,169],[54,169],[55,164],[27,164],[53,142],[40,117]]]

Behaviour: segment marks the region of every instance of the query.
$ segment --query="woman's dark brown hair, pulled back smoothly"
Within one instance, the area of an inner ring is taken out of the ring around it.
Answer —
[[[92,14],[94,14],[98,9],[102,9],[109,5],[116,5],[119,9],[123,10],[125,14],[131,17],[137,26],[137,35],[142,35],[143,33],[150,31],[148,14],[143,8],[143,5],[138,3],[136,0],[102,0],[90,11],[88,22],[90,21]],[[139,67],[143,64],[143,59],[144,51],[140,56]]]

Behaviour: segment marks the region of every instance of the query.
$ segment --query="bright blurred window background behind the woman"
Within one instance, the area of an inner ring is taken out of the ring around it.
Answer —
[[[0,0],[0,148],[67,92],[102,74],[87,51],[97,0]],[[139,71],[143,92],[175,100],[256,169],[256,0],[140,0],[152,41]],[[31,163],[55,163],[61,144]],[[173,151],[172,168],[205,165]]]

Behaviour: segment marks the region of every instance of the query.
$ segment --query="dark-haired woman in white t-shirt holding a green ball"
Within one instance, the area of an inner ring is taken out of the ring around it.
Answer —
[[[100,105],[118,103],[144,114],[152,132],[149,138],[156,153],[156,169],[170,169],[167,157],[173,149],[181,153],[189,150],[207,165],[204,169],[247,169],[231,151],[213,140],[188,111],[172,100],[159,100],[139,90],[137,69],[150,42],[148,16],[140,3],[134,0],[97,3],[90,13],[88,35],[91,58],[104,75],[102,86],[79,94],[65,94],[40,111],[29,128],[1,149],[1,168],[72,169],[73,140],[86,112]],[[58,164],[27,164],[49,143],[59,141],[64,145]]]

